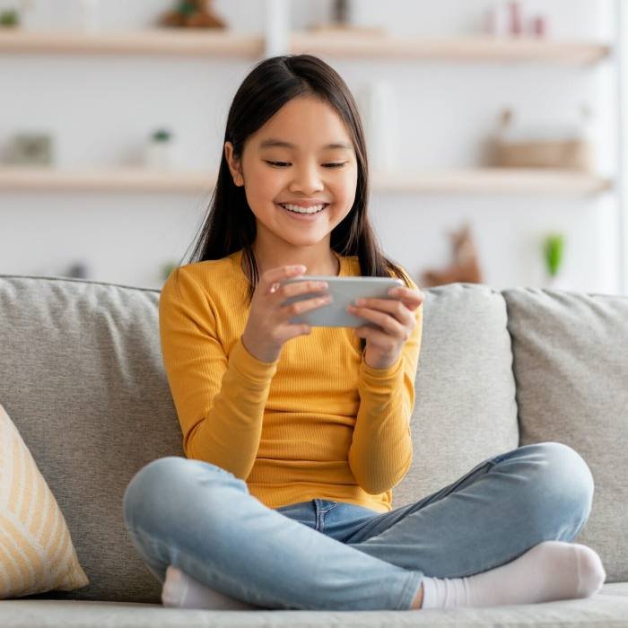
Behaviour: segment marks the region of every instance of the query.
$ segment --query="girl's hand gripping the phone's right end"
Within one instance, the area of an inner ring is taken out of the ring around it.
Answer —
[[[388,294],[393,299],[358,299],[356,306],[347,311],[355,316],[367,318],[376,327],[357,327],[356,336],[366,338],[364,362],[373,369],[388,369],[397,362],[406,340],[411,336],[416,310],[424,300],[423,292],[414,288],[391,288]]]

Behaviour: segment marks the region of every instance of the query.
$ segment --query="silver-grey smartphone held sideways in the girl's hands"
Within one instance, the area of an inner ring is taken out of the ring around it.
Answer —
[[[321,305],[316,310],[303,312],[290,319],[291,323],[307,323],[312,327],[362,327],[374,326],[371,320],[355,316],[346,310],[348,305],[355,305],[356,299],[394,299],[388,295],[388,290],[397,286],[406,285],[401,279],[393,277],[336,277],[325,275],[301,275],[283,280],[283,283],[295,282],[327,282],[327,288],[318,292],[297,294],[283,301],[283,305],[290,305],[295,301],[304,301],[327,292],[331,302]]]

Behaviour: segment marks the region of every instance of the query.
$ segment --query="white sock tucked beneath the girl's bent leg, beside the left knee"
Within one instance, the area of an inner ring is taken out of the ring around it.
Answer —
[[[174,565],[166,570],[166,580],[161,589],[163,606],[178,608],[205,608],[210,610],[260,610],[261,606],[253,606],[239,599],[229,597],[210,589],[203,582],[188,576]]]

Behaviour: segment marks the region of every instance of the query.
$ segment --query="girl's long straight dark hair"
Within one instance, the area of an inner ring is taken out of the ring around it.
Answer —
[[[353,95],[332,67],[311,55],[270,57],[259,62],[236,92],[224,132],[222,159],[205,222],[196,235],[188,263],[221,259],[243,249],[249,276],[249,302],[258,281],[257,264],[251,245],[256,237],[255,214],[244,188],[236,186],[224,156],[224,142],[233,144],[233,156],[240,159],[249,135],[263,126],[283,105],[297,97],[315,97],[333,107],[353,141],[358,162],[358,180],[353,207],[331,232],[331,248],[342,256],[356,255],[361,274],[388,277],[389,271],[408,283],[403,269],[384,257],[367,215],[369,167],[362,122]],[[362,339],[363,342],[363,339]]]

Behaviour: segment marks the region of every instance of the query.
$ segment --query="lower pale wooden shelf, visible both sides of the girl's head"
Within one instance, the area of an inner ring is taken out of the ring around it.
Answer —
[[[209,170],[56,169],[4,166],[0,192],[179,192],[210,193]],[[374,173],[374,192],[440,194],[563,194],[604,192],[612,182],[568,170],[475,169],[406,174]]]

